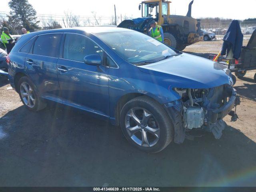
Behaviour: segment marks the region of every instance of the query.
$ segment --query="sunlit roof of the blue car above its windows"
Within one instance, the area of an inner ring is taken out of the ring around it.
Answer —
[[[42,30],[38,32],[33,32],[33,35],[38,34],[46,34],[46,33],[55,33],[55,32],[86,32],[86,33],[107,33],[107,32],[127,32],[133,31],[126,28],[119,28],[116,26],[88,26],[88,27],[74,27],[74,28],[60,28],[60,29],[52,29],[52,30]],[[30,33],[31,34],[31,33]],[[25,34],[29,35],[29,34]]]

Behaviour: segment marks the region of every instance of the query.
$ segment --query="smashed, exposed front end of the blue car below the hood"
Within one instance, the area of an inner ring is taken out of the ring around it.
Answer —
[[[225,124],[222,120],[229,114],[231,120],[238,116],[234,107],[240,104],[236,90],[229,84],[207,89],[174,88],[181,99],[165,104],[174,124],[174,142],[212,132],[216,139],[222,136]]]

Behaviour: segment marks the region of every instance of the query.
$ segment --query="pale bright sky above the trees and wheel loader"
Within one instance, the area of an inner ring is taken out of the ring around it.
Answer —
[[[64,11],[80,16],[113,16],[114,4],[117,16],[141,16],[138,5],[141,0],[28,0],[38,14],[63,15]],[[186,15],[190,0],[171,0],[171,14]],[[9,12],[9,0],[1,0],[1,11]],[[192,17],[220,17],[244,20],[256,17],[256,0],[194,0]]]

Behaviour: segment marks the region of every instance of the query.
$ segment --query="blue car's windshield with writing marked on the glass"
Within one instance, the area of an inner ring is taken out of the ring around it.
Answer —
[[[177,54],[158,40],[140,32],[112,32],[96,35],[131,64],[157,62]]]

